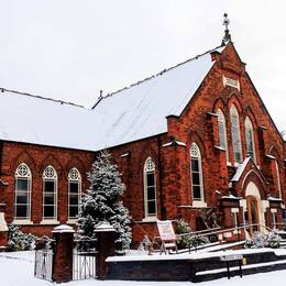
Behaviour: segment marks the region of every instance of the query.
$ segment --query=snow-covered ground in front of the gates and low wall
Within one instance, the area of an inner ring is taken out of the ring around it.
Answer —
[[[160,263],[160,262],[158,262]],[[34,252],[14,252],[0,253],[0,285],[1,286],[51,286],[50,282],[45,282],[33,276]],[[286,271],[272,272],[266,274],[255,274],[240,277],[234,277],[228,280],[227,278],[197,283],[199,286],[284,286]],[[189,282],[119,282],[108,280],[100,282],[95,279],[77,280],[63,284],[63,286],[189,286]]]

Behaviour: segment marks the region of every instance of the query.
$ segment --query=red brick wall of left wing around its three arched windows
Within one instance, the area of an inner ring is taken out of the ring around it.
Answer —
[[[47,234],[53,229],[53,226],[41,224],[43,212],[42,175],[44,168],[51,164],[57,172],[57,220],[61,223],[65,223],[68,216],[68,173],[73,167],[76,167],[80,172],[82,178],[81,189],[85,190],[88,187],[86,173],[90,169],[94,156],[91,152],[4,142],[2,145],[1,177],[9,185],[3,187],[0,201],[7,205],[7,222],[11,223],[13,221],[14,174],[19,164],[25,163],[32,173],[31,220],[33,226],[25,226],[24,230],[31,230],[37,234]]]

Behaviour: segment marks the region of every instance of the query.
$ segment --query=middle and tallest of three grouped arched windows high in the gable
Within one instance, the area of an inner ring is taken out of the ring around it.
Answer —
[[[231,136],[232,136],[232,148],[234,162],[242,162],[241,152],[241,136],[240,136],[240,117],[235,106],[231,106],[230,109],[230,120],[231,120]]]

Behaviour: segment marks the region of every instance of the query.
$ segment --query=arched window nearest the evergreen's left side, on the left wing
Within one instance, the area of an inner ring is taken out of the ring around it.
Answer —
[[[81,177],[77,168],[68,173],[68,219],[76,219],[79,211]]]

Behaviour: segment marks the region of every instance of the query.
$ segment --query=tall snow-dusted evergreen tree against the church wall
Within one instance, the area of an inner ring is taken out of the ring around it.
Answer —
[[[118,166],[111,164],[108,151],[98,155],[88,173],[88,180],[90,187],[80,204],[79,233],[94,238],[96,227],[108,221],[117,231],[117,252],[124,253],[131,243],[130,215],[120,200],[124,191],[121,174]]]

